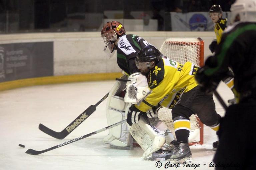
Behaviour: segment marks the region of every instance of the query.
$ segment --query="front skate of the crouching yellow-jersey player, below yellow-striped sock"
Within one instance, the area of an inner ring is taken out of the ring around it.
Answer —
[[[172,149],[171,154],[165,156],[165,160],[172,162],[192,162],[191,151],[188,143],[179,143]]]

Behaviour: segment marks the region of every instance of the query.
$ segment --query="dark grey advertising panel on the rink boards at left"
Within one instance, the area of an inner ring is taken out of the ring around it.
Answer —
[[[0,82],[53,76],[53,42],[0,44]]]

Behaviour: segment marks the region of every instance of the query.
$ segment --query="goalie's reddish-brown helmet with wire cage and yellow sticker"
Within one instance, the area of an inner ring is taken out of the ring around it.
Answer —
[[[114,51],[114,43],[115,41],[125,34],[124,26],[118,21],[111,21],[107,22],[102,30],[101,30],[101,37],[103,38],[106,46],[104,51],[108,47],[110,52]]]

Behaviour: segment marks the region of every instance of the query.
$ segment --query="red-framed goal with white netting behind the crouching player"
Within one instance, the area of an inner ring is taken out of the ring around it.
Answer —
[[[204,63],[204,41],[201,38],[171,38],[166,39],[160,47],[160,52],[169,59],[184,64],[190,61],[197,66]],[[158,112],[162,120],[175,135],[171,109],[162,108]],[[196,115],[190,117],[190,144],[203,144],[203,124]]]

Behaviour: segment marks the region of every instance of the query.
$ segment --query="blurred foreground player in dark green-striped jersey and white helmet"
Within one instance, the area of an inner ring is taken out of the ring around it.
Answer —
[[[226,76],[234,72],[234,89],[238,104],[231,105],[221,119],[219,146],[214,162],[228,167],[255,168],[256,125],[256,0],[237,0],[231,6],[232,26],[228,27],[214,56],[196,74],[202,89],[213,91]]]

